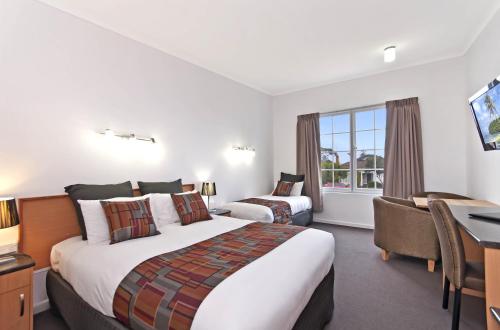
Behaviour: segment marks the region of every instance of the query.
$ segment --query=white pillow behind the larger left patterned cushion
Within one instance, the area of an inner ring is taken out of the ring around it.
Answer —
[[[158,228],[158,222],[156,220],[154,207],[152,206],[152,200],[150,195],[144,195],[139,197],[115,197],[110,199],[104,199],[105,201],[111,202],[129,202],[144,200],[150,198],[151,213],[153,215],[153,221]],[[87,230],[87,242],[90,245],[99,244],[103,242],[109,242],[109,226],[108,220],[106,219],[106,214],[101,206],[100,200],[78,200],[80,208],[82,209],[83,221],[85,222],[85,229]]]

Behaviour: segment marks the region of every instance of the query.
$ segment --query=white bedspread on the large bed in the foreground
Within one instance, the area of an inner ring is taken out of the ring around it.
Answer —
[[[214,216],[113,245],[88,245],[73,237],[52,248],[52,268],[92,307],[114,316],[115,290],[136,265],[250,222]],[[200,305],[192,329],[291,329],[330,270],[334,248],[330,233],[307,229],[297,234],[216,286]]]

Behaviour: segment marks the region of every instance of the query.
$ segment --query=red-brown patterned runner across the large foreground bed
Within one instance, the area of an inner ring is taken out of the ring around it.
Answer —
[[[132,329],[189,329],[213,288],[303,230],[255,222],[148,259],[121,281],[113,312]]]

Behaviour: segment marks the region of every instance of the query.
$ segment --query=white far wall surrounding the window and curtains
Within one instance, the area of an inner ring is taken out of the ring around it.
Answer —
[[[366,106],[392,99],[419,98],[424,176],[427,190],[465,193],[466,121],[468,118],[463,58],[387,72],[277,96],[274,114],[274,178],[295,172],[297,115]],[[327,193],[321,221],[373,226],[370,194]]]

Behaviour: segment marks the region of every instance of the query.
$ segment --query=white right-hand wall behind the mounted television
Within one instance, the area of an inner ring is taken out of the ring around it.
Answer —
[[[500,76],[500,11],[466,54],[467,96]],[[471,196],[500,203],[500,152],[484,151],[472,115],[468,120],[467,181]]]

